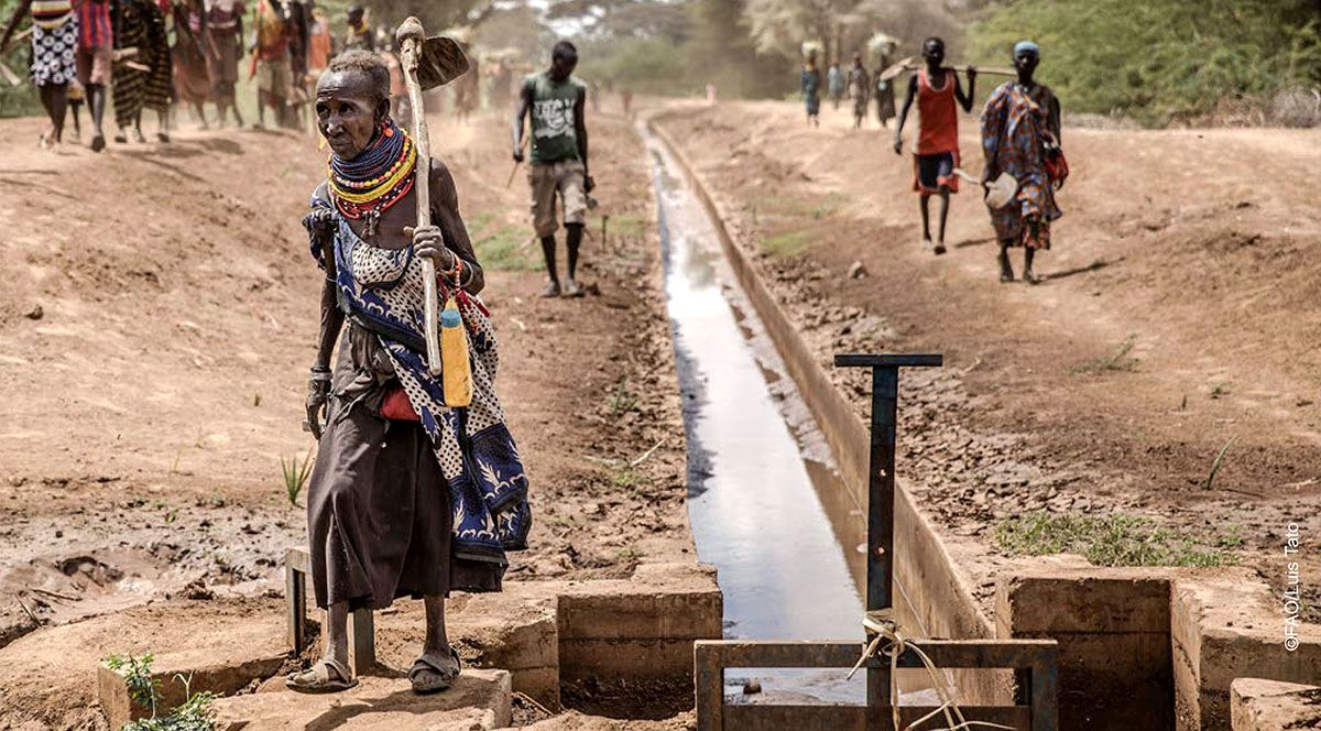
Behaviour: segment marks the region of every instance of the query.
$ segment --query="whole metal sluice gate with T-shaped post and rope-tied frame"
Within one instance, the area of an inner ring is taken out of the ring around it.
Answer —
[[[926,668],[935,674],[933,665],[939,672],[1015,672],[1013,705],[958,705],[962,718],[968,722],[966,728],[1055,731],[1058,727],[1059,649],[1054,640],[898,640],[886,629],[894,627],[890,591],[894,582],[894,444],[900,369],[939,367],[943,361],[941,354],[835,356],[838,367],[872,370],[865,637],[863,642],[699,640],[694,645],[699,731],[950,728],[942,706],[894,707],[898,699],[892,694],[892,668]],[[843,672],[855,666],[867,670],[865,706],[725,703],[724,675],[732,668],[838,668]]]

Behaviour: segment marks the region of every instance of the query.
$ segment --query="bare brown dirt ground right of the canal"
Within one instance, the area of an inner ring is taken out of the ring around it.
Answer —
[[[822,362],[946,354],[902,377],[898,473],[954,535],[989,547],[996,523],[1036,510],[1149,516],[1276,587],[1288,523],[1317,545],[1321,208],[1303,181],[1321,169],[1321,131],[1066,124],[1065,218],[1029,287],[997,282],[967,186],[950,252],[919,247],[911,161],[875,122],[852,131],[826,110],[812,130],[799,104],[771,102],[659,120]],[[976,119],[960,123],[976,173]],[[865,276],[848,276],[855,263]],[[835,373],[861,412],[865,375]],[[1321,576],[1314,549],[1303,560]]]

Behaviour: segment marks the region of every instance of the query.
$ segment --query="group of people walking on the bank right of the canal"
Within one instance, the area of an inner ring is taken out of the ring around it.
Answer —
[[[1013,46],[1013,74],[987,99],[980,115],[983,169],[980,176],[966,173],[959,155],[959,107],[972,111],[978,70],[964,70],[967,93],[956,70],[945,65],[945,41],[927,38],[922,44],[923,66],[909,79],[908,94],[894,127],[894,153],[904,155],[904,126],[915,104],[918,132],[913,145],[913,190],[919,196],[922,213],[922,247],[945,254],[945,229],[950,196],[959,192],[959,178],[980,184],[991,225],[1000,245],[1000,282],[1013,282],[1009,249],[1024,249],[1022,280],[1037,284],[1033,271],[1037,251],[1050,249],[1050,225],[1063,213],[1055,204],[1055,190],[1069,177],[1069,165],[1061,148],[1059,100],[1049,87],[1037,83],[1041,48],[1032,41]],[[884,61],[882,61],[884,63]],[[845,77],[832,65],[827,89],[836,108],[845,90],[853,99],[853,126],[861,127],[867,114],[865,95],[876,89],[882,74],[868,75],[861,54]],[[815,56],[810,54],[802,73],[802,94],[810,124],[819,124],[820,74]],[[878,102],[881,102],[878,99]],[[882,107],[884,107],[884,102]],[[893,112],[893,91],[889,108]],[[885,126],[882,116],[881,124]],[[1000,192],[992,194],[992,189]],[[930,198],[941,200],[935,237],[931,235]],[[1003,200],[1001,200],[1003,198]]]

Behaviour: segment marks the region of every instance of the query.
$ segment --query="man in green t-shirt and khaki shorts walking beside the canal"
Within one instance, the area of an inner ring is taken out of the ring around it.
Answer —
[[[577,49],[568,41],[555,44],[551,67],[523,81],[514,116],[514,161],[523,161],[523,120],[532,119],[532,157],[527,181],[532,189],[532,227],[542,239],[546,271],[551,280],[542,296],[581,297],[577,254],[587,223],[587,86],[573,78]],[[560,287],[555,268],[555,194],[564,208],[564,243],[568,247],[568,279]]]

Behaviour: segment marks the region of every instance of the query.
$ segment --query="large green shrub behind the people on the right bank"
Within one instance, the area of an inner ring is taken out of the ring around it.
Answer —
[[[1203,118],[1225,99],[1321,86],[1314,0],[1017,0],[970,36],[974,58],[996,66],[1032,38],[1040,78],[1066,111],[1152,126]]]

